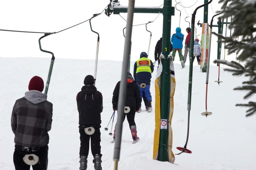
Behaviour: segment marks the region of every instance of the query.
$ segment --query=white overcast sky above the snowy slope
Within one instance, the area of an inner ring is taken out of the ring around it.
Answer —
[[[96,3],[93,3],[96,2]],[[184,6],[180,6],[181,2]],[[2,1],[0,5],[0,29],[34,32],[58,32],[90,19],[93,14],[101,13],[108,5],[108,0],[99,1]],[[195,8],[202,5],[203,0],[175,0],[172,6],[175,16],[172,16],[171,35],[175,33],[175,28],[180,25],[181,32],[187,36],[186,28],[191,24],[191,15]],[[120,1],[123,6],[128,6],[128,0]],[[163,1],[137,0],[135,6],[161,6]],[[217,0],[212,1],[208,7],[208,22],[213,15],[218,13],[222,4]],[[105,10],[104,10],[105,11]],[[104,14],[91,20],[92,28],[99,33],[99,60],[122,60],[124,36],[123,28],[126,27],[127,14],[112,14],[110,17]],[[122,18],[122,17],[123,18]],[[185,17],[189,16],[185,21]],[[125,20],[124,20],[125,19]],[[155,21],[154,21],[155,20]],[[203,7],[197,10],[196,23],[203,22]],[[152,32],[152,39],[149,51],[149,58],[154,60],[154,47],[162,36],[163,15],[160,14],[134,14],[133,25],[145,24]],[[213,24],[217,25],[218,19],[215,17]],[[180,23],[179,23],[180,22]],[[197,33],[200,35],[202,28],[195,25]],[[217,27],[212,31],[218,32]],[[225,33],[225,25],[224,31]],[[228,34],[229,35],[229,30]],[[0,57],[51,57],[51,54],[40,51],[38,39],[44,34],[20,33],[0,31]],[[196,36],[195,36],[196,37]],[[200,40],[200,36],[198,36]],[[132,32],[131,60],[139,58],[142,51],[148,52],[150,33],[146,31],[145,25],[134,26]],[[212,37],[211,58],[217,58],[217,37]],[[184,42],[183,42],[184,44]],[[89,21],[57,34],[49,35],[41,40],[41,47],[44,50],[54,53],[56,58],[73,59],[95,59],[97,45],[97,34],[90,30]],[[184,52],[184,51],[183,51]],[[177,61],[178,62],[178,61]]]

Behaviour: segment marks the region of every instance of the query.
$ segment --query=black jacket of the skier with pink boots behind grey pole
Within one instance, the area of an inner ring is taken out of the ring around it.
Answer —
[[[120,81],[117,82],[113,92],[113,98],[112,98],[113,108],[117,106],[119,89],[120,89]],[[136,110],[138,110],[141,107],[139,86],[134,81],[131,83],[127,82],[125,106],[136,107]]]

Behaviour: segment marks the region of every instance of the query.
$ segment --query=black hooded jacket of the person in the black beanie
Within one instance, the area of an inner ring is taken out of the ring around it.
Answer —
[[[79,125],[101,124],[102,94],[94,85],[85,85],[76,96]]]

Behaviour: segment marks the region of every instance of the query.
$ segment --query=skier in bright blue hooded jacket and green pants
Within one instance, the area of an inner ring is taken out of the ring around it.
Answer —
[[[172,48],[172,58],[174,61],[176,51],[178,51],[182,69],[184,68],[184,57],[182,55],[183,40],[184,40],[184,35],[181,33],[181,28],[177,27],[176,34],[173,34],[172,38],[171,38],[172,47],[173,47]]]

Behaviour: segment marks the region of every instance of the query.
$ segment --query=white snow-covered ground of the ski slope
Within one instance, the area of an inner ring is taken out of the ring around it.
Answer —
[[[0,169],[13,170],[14,134],[11,131],[11,112],[14,102],[28,91],[29,80],[38,75],[44,84],[50,66],[50,58],[3,58],[0,57]],[[133,72],[131,62],[131,72]],[[212,64],[212,63],[211,63]],[[103,95],[103,112],[101,128],[102,169],[114,169],[112,137],[108,135],[113,113],[112,92],[120,81],[121,61],[99,60],[96,87]],[[174,113],[172,117],[174,154],[184,147],[187,137],[187,93],[189,67],[181,69],[174,63],[176,90],[174,95]],[[193,66],[192,102],[190,111],[190,133],[187,149],[192,154],[175,155],[175,164],[152,160],[154,139],[154,78],[152,74],[151,93],[153,111],[136,113],[140,141],[132,144],[127,120],[123,124],[121,156],[119,170],[255,170],[256,169],[256,116],[246,118],[246,108],[235,107],[243,100],[245,92],[233,91],[242,85],[244,77],[233,77],[210,65],[207,111],[211,116],[205,117],[206,73],[200,72],[200,66]],[[53,123],[49,132],[48,170],[79,169],[79,132],[76,94],[83,86],[86,75],[94,75],[94,60],[56,58],[48,90],[48,101],[53,103]],[[255,96],[250,101],[255,101]],[[143,105],[143,104],[142,104]],[[145,108],[142,107],[144,110]],[[117,120],[115,116],[114,124]],[[113,126],[114,127],[114,126]],[[112,130],[113,133],[113,130]],[[88,156],[88,170],[92,170],[92,154]],[[32,169],[32,168],[31,168]]]

